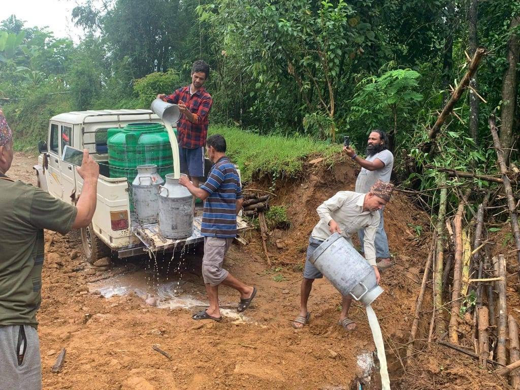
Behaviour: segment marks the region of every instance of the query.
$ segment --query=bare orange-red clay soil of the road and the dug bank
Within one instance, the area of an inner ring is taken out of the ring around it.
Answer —
[[[32,181],[34,160],[17,153],[9,175]],[[266,264],[253,231],[245,235],[250,243],[233,245],[226,259],[232,274],[258,288],[252,308],[244,313],[246,320],[196,322],[191,319],[194,309],[161,309],[136,295],[107,299],[88,292],[89,281],[111,271],[85,263],[77,232],[67,236],[47,232],[38,313],[44,388],[349,389],[359,373],[357,356],[374,349],[364,309],[352,307],[351,317],[358,326],[352,333],[344,332],[337,324],[340,296],[326,280],[318,280],[309,300],[310,324],[296,331],[290,320],[298,311],[301,265],[318,220],[316,207],[336,191],[353,189],[355,177],[349,162],[337,163],[332,172],[309,164],[303,180],[278,184],[278,196],[271,203],[289,205],[292,227],[271,232],[268,248],[274,263]],[[257,183],[256,188],[266,187]],[[412,225],[422,226],[420,237]],[[385,227],[397,264],[382,273],[385,293],[373,304],[393,388],[508,388],[496,375],[478,369],[472,358],[437,344],[418,350],[405,370],[403,346],[422,278],[429,226],[427,215],[402,193],[395,193],[385,209]],[[121,267],[124,262],[116,264]],[[205,301],[200,277],[187,278],[199,287],[195,297]],[[232,290],[222,288],[220,294],[221,302],[238,302]],[[428,320],[423,322],[426,328]],[[172,360],[155,352],[154,344]],[[50,369],[61,348],[67,348],[66,362],[54,374]],[[370,388],[378,387],[372,383]]]

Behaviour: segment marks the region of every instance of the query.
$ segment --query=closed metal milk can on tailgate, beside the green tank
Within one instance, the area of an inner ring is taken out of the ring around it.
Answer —
[[[137,176],[132,182],[134,208],[141,224],[157,222],[159,216],[159,187],[164,184],[157,173],[157,165],[137,166]]]

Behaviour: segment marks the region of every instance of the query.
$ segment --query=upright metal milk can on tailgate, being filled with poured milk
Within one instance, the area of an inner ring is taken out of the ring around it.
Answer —
[[[159,232],[172,239],[190,237],[195,207],[193,195],[179,184],[179,179],[174,179],[173,173],[165,178],[164,186],[159,186]]]

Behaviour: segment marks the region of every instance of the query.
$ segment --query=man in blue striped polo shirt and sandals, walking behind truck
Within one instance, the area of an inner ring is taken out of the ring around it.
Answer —
[[[194,320],[212,319],[220,321],[218,307],[218,285],[225,284],[240,292],[237,311],[249,307],[256,295],[256,288],[242,283],[232,276],[222,265],[224,256],[233,238],[237,236],[237,214],[242,209],[242,190],[238,173],[226,156],[226,140],[214,134],[206,140],[207,157],[215,163],[206,183],[200,188],[194,186],[186,176],[179,179],[194,196],[204,201],[201,234],[204,236],[204,257],[202,277],[206,286],[210,307],[194,314]]]

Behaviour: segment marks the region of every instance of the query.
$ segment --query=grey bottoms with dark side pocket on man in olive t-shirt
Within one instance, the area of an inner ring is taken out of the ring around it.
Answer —
[[[20,352],[23,358],[19,363]],[[9,390],[41,390],[40,340],[33,327],[0,326],[0,381],[0,388]]]

